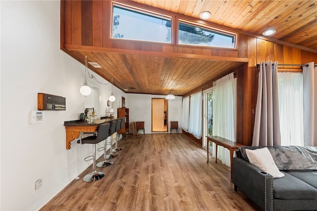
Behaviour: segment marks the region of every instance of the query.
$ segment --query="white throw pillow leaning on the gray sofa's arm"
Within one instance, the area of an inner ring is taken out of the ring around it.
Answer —
[[[273,178],[285,176],[278,170],[272,155],[266,147],[257,150],[246,150],[246,153],[251,164],[258,166],[268,174],[272,175]]]

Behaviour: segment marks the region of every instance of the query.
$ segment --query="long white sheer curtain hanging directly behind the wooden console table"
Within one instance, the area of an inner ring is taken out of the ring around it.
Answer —
[[[235,141],[236,79],[233,73],[218,79],[212,91],[212,135]],[[215,157],[212,143],[212,157]],[[218,146],[218,158],[230,167],[229,150]]]

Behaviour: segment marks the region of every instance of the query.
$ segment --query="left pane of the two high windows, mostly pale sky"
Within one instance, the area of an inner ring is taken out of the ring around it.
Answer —
[[[112,38],[171,43],[171,19],[113,5]]]

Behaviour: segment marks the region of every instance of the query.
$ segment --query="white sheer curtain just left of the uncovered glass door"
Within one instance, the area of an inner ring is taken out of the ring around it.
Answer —
[[[197,139],[200,139],[202,137],[202,100],[202,92],[195,93],[190,97],[188,132],[193,134]]]

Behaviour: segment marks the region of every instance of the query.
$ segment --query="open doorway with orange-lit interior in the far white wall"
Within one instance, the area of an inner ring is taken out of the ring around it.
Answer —
[[[152,132],[168,132],[168,101],[152,98]]]

